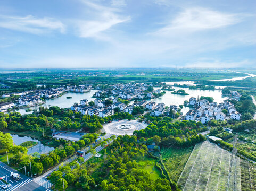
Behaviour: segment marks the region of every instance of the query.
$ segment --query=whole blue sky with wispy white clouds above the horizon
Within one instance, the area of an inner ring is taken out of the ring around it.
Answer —
[[[256,68],[256,1],[0,2],[0,68]]]

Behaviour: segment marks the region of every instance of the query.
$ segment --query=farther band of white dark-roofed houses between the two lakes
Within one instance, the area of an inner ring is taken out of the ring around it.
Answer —
[[[154,93],[158,94],[161,92],[160,89],[154,90],[152,92],[145,93],[147,90],[147,86],[153,86],[152,83],[127,83],[127,84],[114,84],[111,85],[110,88],[106,88],[104,90],[98,90],[95,93],[95,97],[102,98],[108,97],[110,94],[119,97],[121,99],[144,99],[144,98],[153,98]]]

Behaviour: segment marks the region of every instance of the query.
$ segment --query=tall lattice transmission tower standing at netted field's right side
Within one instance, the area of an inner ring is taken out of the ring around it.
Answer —
[[[237,134],[235,135],[234,141],[233,141],[233,149],[232,149],[231,160],[229,164],[227,191],[230,189],[230,187],[232,187],[232,184],[234,186],[234,189],[232,190],[236,191],[236,163],[237,163],[236,153],[237,153]],[[233,177],[234,177],[234,180],[232,181]]]

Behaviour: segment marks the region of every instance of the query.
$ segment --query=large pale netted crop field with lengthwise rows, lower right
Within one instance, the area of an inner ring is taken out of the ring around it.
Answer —
[[[183,191],[227,190],[229,164],[232,155],[218,145],[205,141],[196,144],[177,184]],[[240,159],[237,157],[235,170],[231,169],[228,190],[241,190]],[[235,183],[235,186],[234,186]]]

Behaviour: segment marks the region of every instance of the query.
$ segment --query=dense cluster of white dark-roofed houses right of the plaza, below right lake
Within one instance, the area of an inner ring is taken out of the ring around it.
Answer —
[[[185,115],[186,120],[197,120],[203,124],[208,123],[212,119],[224,121],[226,119],[240,120],[241,114],[238,113],[232,103],[228,100],[219,105],[216,102],[209,103],[208,100],[197,100],[196,98],[189,99],[189,105],[195,107],[193,110],[189,110]],[[226,114],[222,112],[226,110]]]

